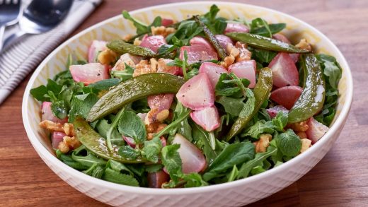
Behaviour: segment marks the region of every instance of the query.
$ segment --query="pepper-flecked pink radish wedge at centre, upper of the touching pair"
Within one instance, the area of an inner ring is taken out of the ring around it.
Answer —
[[[207,73],[190,78],[176,93],[178,100],[191,110],[202,110],[214,105],[214,88]]]

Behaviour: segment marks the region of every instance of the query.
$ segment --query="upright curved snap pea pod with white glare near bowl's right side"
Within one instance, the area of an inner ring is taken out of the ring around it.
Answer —
[[[304,71],[304,89],[289,111],[288,122],[302,122],[314,116],[323,107],[326,86],[323,71],[314,54],[302,54],[301,67]]]

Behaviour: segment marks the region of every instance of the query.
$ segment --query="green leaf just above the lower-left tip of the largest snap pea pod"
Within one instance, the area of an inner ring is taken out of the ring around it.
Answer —
[[[71,107],[69,112],[69,122],[74,122],[77,116],[86,119],[89,111],[97,102],[98,97],[94,93],[87,93],[83,95],[74,95],[71,99]]]

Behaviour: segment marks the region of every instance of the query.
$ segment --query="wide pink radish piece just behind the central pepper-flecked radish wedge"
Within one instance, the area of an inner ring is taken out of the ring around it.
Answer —
[[[193,64],[198,61],[217,60],[217,52],[213,49],[203,47],[202,45],[183,46],[180,49],[180,59],[184,59],[184,51],[188,54],[188,64]]]

